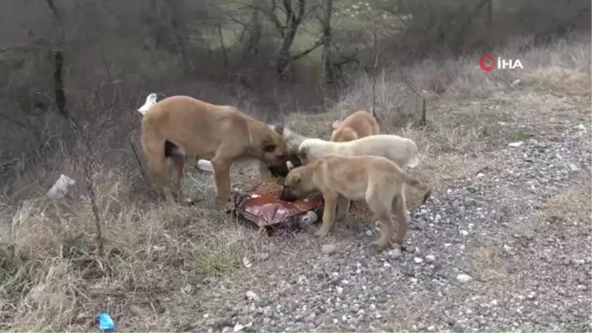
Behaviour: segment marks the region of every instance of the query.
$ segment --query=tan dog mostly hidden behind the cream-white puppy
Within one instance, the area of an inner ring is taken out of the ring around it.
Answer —
[[[343,121],[334,121],[332,127],[333,133],[331,133],[329,140],[333,142],[353,141],[379,133],[376,118],[365,110],[350,114]]]

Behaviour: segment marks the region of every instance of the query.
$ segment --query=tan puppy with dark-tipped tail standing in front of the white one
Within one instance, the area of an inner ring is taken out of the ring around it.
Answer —
[[[348,214],[343,201],[366,200],[374,216],[381,222],[381,236],[375,245],[382,250],[392,239],[392,214],[398,222],[395,242],[403,246],[409,217],[404,184],[427,191],[430,188],[411,178],[397,164],[379,156],[347,157],[330,154],[311,164],[295,168],[284,180],[282,200],[294,200],[312,191],[320,191],[324,199],[323,225],[317,236],[325,236],[334,220],[343,220]]]

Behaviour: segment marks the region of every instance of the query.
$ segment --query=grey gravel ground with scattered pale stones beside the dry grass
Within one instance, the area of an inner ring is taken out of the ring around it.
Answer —
[[[372,255],[375,230],[363,230],[339,251],[324,245],[276,265],[261,277],[267,287],[227,300],[195,332],[592,329],[592,229],[538,214],[592,164],[581,126],[558,126],[560,135],[506,146],[494,167],[433,193],[411,213],[408,252]]]

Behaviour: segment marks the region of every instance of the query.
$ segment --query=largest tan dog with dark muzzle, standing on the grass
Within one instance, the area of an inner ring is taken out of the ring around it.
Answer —
[[[233,209],[230,167],[242,158],[256,158],[269,167],[285,164],[283,127],[275,130],[228,105],[214,105],[188,96],[173,96],[152,105],[142,119],[141,142],[150,169],[166,198],[182,200],[180,188],[186,156],[210,159],[217,200]],[[166,159],[173,164],[173,195],[166,179]]]

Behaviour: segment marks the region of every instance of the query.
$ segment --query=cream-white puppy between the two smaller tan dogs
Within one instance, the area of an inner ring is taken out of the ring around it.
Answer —
[[[397,135],[371,135],[349,142],[331,142],[306,139],[298,148],[298,158],[308,164],[335,153],[344,156],[382,156],[395,162],[400,168],[414,168],[419,164],[417,145],[413,140]]]

